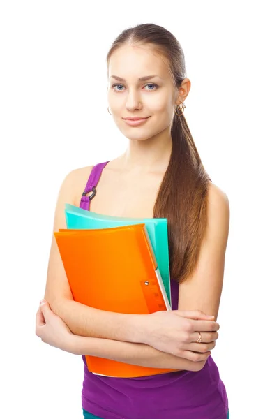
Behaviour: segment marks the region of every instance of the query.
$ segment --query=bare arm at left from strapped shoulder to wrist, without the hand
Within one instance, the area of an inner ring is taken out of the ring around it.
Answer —
[[[53,233],[58,231],[59,228],[67,228],[64,212],[65,203],[75,205],[75,195],[80,193],[79,189],[83,187],[82,182],[84,182],[83,179],[86,176],[84,172],[86,170],[89,176],[90,167],[73,170],[63,180],[56,202]],[[53,233],[44,296],[52,311],[65,321],[75,335],[139,341],[139,337],[135,335],[141,330],[141,322],[139,321],[142,318],[141,316],[98,310],[73,300]],[[136,317],[137,327],[133,323]]]

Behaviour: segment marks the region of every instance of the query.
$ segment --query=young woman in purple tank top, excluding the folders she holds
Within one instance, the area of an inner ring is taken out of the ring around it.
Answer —
[[[218,338],[229,202],[207,175],[183,115],[190,90],[183,51],[165,28],[137,25],[112,44],[107,78],[108,110],[128,148],[112,161],[66,175],[54,231],[66,228],[65,203],[112,216],[166,217],[172,311],[134,316],[75,302],[53,238],[36,335],[78,355],[178,370],[98,376],[83,357],[86,419],[227,419],[225,385],[211,350]]]

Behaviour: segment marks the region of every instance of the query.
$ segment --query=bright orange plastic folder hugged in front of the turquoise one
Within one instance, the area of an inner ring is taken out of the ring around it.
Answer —
[[[171,309],[144,223],[115,228],[55,232],[75,301],[126,314]],[[130,365],[86,355],[94,374],[140,377],[174,369]]]

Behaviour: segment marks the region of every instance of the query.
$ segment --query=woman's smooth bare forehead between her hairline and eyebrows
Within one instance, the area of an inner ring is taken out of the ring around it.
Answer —
[[[110,57],[108,76],[118,75],[126,80],[138,79],[144,75],[156,74],[170,78],[166,60],[151,47],[124,45]]]

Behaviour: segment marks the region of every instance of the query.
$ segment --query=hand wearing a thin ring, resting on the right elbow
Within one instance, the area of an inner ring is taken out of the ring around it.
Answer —
[[[142,343],[191,361],[203,361],[215,347],[220,325],[202,311],[156,311],[142,317]],[[202,342],[197,343],[199,333]]]

